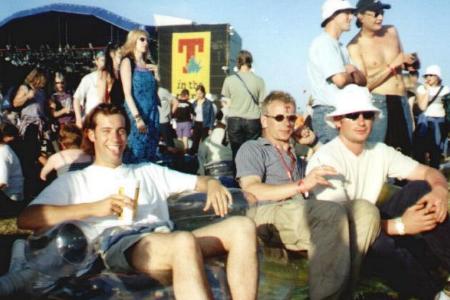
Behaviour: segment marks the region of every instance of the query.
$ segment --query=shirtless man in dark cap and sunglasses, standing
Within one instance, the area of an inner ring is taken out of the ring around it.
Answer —
[[[413,69],[417,57],[403,52],[394,26],[383,25],[384,10],[390,7],[378,0],[358,1],[356,26],[361,30],[350,41],[348,51],[366,75],[374,105],[382,111],[369,140],[384,141],[409,154],[412,119],[401,71]]]

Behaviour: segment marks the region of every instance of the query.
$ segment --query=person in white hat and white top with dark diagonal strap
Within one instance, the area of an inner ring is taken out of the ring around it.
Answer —
[[[425,84],[417,88],[417,104],[423,113],[419,115],[414,131],[413,157],[426,163],[426,153],[429,153],[430,166],[439,169],[448,133],[444,98],[450,90],[442,85],[438,65],[427,67],[423,76]]]

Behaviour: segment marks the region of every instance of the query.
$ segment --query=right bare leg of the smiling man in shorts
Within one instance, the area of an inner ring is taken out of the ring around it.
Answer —
[[[227,279],[233,299],[256,299],[258,258],[256,229],[246,217],[230,217],[193,232],[204,257],[228,252]]]

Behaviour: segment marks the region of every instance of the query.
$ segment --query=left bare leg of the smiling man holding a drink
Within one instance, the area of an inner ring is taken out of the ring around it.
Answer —
[[[177,299],[212,299],[199,245],[189,232],[146,236],[133,246],[131,264],[136,271],[163,282],[172,272]]]

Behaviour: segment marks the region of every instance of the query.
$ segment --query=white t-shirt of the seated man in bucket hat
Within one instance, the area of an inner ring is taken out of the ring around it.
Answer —
[[[387,177],[404,179],[418,164],[383,143],[366,144],[363,152],[355,155],[340,137],[336,137],[311,157],[306,174],[322,165],[332,166],[338,173],[327,176],[332,188],[317,187],[312,191],[318,200],[341,202],[363,199],[376,203]]]

